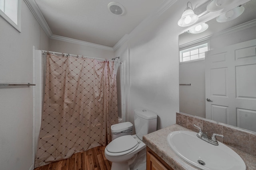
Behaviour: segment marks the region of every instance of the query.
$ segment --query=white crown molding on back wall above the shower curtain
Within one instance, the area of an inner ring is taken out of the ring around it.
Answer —
[[[94,43],[89,43],[89,42],[81,41],[81,40],[78,40],[78,39],[62,37],[60,35],[52,35],[50,37],[50,39],[56,39],[56,40],[60,40],[60,41],[66,41],[68,43],[75,43],[75,44],[79,44],[79,45],[85,45],[85,46],[88,46],[88,47],[94,47],[94,48],[98,48],[98,49],[114,51],[112,47],[107,47],[107,46],[104,46],[104,45],[98,45],[98,44],[94,44]]]

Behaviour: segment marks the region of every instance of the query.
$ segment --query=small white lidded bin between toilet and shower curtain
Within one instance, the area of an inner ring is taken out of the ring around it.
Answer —
[[[132,126],[133,125],[131,122],[124,122],[112,125],[112,140],[124,135],[132,135]]]

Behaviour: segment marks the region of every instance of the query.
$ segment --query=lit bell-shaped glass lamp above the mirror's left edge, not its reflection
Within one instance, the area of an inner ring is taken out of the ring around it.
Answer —
[[[190,4],[191,8],[188,7],[188,4]],[[178,25],[180,27],[186,27],[186,26],[192,25],[197,20],[198,20],[198,16],[194,13],[192,4],[191,2],[188,2],[187,8],[185,8],[180,20],[178,21]]]

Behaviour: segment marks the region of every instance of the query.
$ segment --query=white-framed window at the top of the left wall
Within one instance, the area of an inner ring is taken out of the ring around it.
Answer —
[[[21,32],[21,0],[0,0],[0,16]]]

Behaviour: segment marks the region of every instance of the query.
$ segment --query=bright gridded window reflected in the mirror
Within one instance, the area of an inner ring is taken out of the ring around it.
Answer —
[[[208,51],[208,43],[180,51],[180,63],[185,61],[204,59],[204,52]]]

